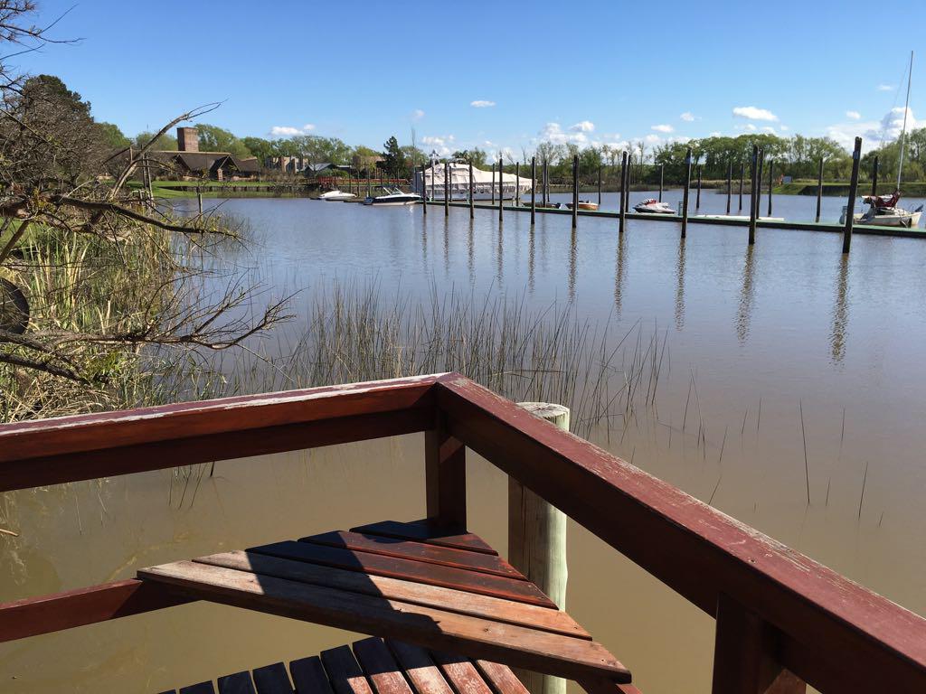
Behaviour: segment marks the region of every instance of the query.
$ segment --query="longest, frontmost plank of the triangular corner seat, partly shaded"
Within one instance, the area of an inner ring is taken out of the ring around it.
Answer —
[[[614,656],[581,638],[193,562],[154,566],[139,571],[139,576],[202,600],[406,640],[549,675],[630,681],[630,673]]]

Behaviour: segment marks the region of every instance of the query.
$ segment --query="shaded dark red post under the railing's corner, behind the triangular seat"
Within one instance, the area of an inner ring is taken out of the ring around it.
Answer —
[[[466,531],[466,446],[447,433],[444,415],[424,432],[428,519],[454,532]]]

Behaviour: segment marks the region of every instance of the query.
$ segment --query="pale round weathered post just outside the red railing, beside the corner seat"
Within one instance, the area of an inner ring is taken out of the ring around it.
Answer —
[[[521,407],[569,431],[569,408],[559,404],[519,403]],[[508,477],[508,561],[566,609],[566,514]],[[531,694],[566,694],[566,680],[518,671]]]

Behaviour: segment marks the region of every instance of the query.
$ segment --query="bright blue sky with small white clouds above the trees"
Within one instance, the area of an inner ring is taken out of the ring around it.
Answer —
[[[58,75],[127,134],[224,101],[206,121],[240,136],[301,131],[379,148],[393,134],[409,142],[414,127],[439,152],[751,130],[877,145],[892,107],[889,134],[903,116],[901,82],[926,26],[921,0],[40,0],[38,23],[71,7],[53,31],[80,43],[13,62]],[[920,60],[910,124],[920,115],[921,127]]]

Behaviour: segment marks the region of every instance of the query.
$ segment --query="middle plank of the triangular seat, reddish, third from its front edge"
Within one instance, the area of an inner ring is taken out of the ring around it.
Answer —
[[[333,566],[374,576],[389,576],[404,581],[492,595],[505,600],[527,602],[556,609],[556,605],[540,589],[528,581],[482,574],[457,569],[452,566],[423,564],[407,559],[399,559],[398,557],[341,550],[335,547],[324,547],[294,540],[284,540],[260,547],[252,547],[247,551],[282,557],[283,559],[293,559],[309,564]]]

